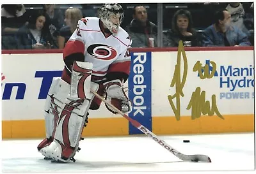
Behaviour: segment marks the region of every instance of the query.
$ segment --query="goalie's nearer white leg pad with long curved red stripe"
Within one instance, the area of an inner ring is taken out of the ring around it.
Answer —
[[[98,87],[97,83],[92,82],[93,91],[97,91]],[[67,98],[60,114],[54,141],[49,145],[47,156],[63,162],[67,162],[74,157],[92,99],[93,97],[76,100]]]

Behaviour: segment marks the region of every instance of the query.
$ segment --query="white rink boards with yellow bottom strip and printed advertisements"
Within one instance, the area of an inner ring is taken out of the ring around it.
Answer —
[[[154,133],[253,131],[253,47],[186,48],[179,54],[175,48],[134,48],[131,58],[129,117]],[[45,136],[45,98],[62,69],[60,52],[2,52],[3,138]],[[90,112],[83,136],[139,133],[101,105]]]

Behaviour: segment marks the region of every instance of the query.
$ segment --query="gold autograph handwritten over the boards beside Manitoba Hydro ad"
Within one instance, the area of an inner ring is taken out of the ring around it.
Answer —
[[[181,54],[184,61],[184,69],[183,69],[182,80],[180,82]],[[212,64],[211,73],[209,73],[209,65],[206,64],[204,67],[202,67],[202,64],[200,63],[200,61],[196,62],[193,68],[193,71],[198,71],[201,79],[212,78],[212,76],[214,76],[214,73],[216,72],[216,64],[215,62],[212,62],[212,61],[211,61],[211,64]],[[188,59],[183,47],[183,43],[182,41],[179,41],[177,64],[175,65],[173,79],[170,84],[170,87],[174,87],[175,85],[176,92],[173,96],[168,95],[169,103],[172,106],[172,110],[177,120],[180,120],[180,96],[184,97],[184,93],[182,89],[185,85],[187,75],[188,75]],[[176,99],[176,107],[173,103],[173,99]],[[212,106],[211,106],[210,101],[205,101],[205,91],[201,92],[200,87],[196,87],[195,92],[192,93],[191,99],[186,109],[187,110],[191,109],[191,119],[196,119],[201,117],[202,113],[203,115],[208,114],[208,116],[212,116],[214,115],[214,113],[216,113],[218,117],[220,117],[221,119],[224,119],[218,110],[218,106],[216,104],[216,95],[212,95]]]

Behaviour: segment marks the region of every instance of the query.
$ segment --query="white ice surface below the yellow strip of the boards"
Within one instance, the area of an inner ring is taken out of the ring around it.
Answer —
[[[76,163],[45,161],[36,147],[41,140],[3,140],[3,172],[218,171],[255,170],[253,133],[160,136],[183,154],[205,154],[212,163],[180,161],[145,136],[84,138]],[[190,143],[183,143],[190,140]]]

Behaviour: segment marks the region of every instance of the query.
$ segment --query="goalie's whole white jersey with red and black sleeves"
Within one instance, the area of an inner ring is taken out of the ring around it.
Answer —
[[[86,17],[78,21],[77,29],[63,50],[65,68],[61,78],[70,83],[70,72],[74,61],[93,63],[92,81],[106,80],[109,74],[127,80],[130,71],[131,39],[122,27],[113,35],[104,31],[97,17]]]

